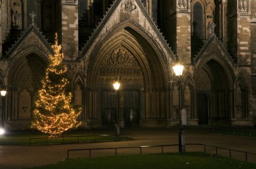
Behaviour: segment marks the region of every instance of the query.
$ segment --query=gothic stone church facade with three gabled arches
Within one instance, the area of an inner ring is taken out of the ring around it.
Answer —
[[[180,109],[187,125],[256,123],[256,0],[0,0],[0,16],[6,128],[28,129],[55,32],[82,127],[170,127]]]

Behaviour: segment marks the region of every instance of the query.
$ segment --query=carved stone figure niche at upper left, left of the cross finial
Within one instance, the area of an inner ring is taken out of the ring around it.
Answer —
[[[15,30],[22,30],[22,2],[11,2],[11,27]]]

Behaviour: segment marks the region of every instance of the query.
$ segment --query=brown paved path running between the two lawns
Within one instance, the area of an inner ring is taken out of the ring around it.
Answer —
[[[127,142],[70,144],[58,146],[0,146],[0,168],[26,168],[30,166],[54,164],[67,157],[68,149],[148,145],[156,146],[177,144],[178,142],[177,129],[129,129],[126,131],[133,133],[134,140]],[[205,130],[203,129],[185,129],[185,131],[187,144],[199,143],[256,153],[256,139],[212,135],[205,133]],[[189,146],[187,146],[187,150],[191,150],[189,149]],[[106,155],[109,153],[111,152],[107,152]],[[73,154],[72,157],[75,155],[77,154]],[[93,156],[94,155],[96,156],[97,153],[93,154]],[[253,160],[256,161],[256,156],[253,158],[255,158]]]

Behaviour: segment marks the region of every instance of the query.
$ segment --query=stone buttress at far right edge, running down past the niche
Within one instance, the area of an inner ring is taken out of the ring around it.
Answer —
[[[251,1],[249,0],[238,0],[236,3],[237,11],[237,27],[236,27],[236,36],[237,36],[237,65],[238,72],[243,75],[247,82],[248,87],[248,114],[246,119],[238,119],[235,123],[232,122],[232,125],[252,125],[253,119],[253,105],[252,105],[252,84],[251,84]]]

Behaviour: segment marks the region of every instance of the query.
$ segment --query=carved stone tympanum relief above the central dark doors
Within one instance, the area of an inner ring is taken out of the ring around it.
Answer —
[[[117,78],[122,84],[143,84],[141,68],[134,56],[123,46],[110,52],[102,61],[97,84],[111,84]]]

